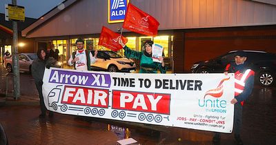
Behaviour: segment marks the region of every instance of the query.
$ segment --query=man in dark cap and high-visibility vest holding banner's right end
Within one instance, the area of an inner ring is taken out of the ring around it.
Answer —
[[[234,134],[237,144],[242,145],[242,139],[240,137],[242,129],[242,106],[244,101],[250,96],[254,86],[255,72],[246,66],[246,52],[235,52],[235,62],[226,66],[224,74],[228,72],[235,73],[235,98],[230,101],[234,104]],[[213,142],[218,143],[220,141],[220,134],[215,133]]]

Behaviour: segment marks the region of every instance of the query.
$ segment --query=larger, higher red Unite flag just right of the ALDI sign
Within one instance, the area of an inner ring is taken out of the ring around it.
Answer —
[[[155,37],[159,22],[150,14],[139,10],[139,8],[128,3],[128,10],[124,20],[123,28],[132,32],[137,32],[141,35]]]

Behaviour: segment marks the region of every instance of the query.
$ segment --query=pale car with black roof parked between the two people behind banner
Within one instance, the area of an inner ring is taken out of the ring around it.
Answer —
[[[92,50],[92,55],[95,51]],[[97,61],[91,64],[92,70],[103,70],[108,72],[132,72],[136,70],[132,59],[122,57],[114,51],[98,50]]]

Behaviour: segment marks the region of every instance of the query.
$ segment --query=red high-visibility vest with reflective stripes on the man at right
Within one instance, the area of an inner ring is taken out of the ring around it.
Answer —
[[[246,85],[246,80],[254,76],[255,72],[253,70],[247,69],[244,73],[239,70],[235,72],[235,96],[239,95],[244,91],[244,86]],[[244,105],[244,101],[241,102]]]

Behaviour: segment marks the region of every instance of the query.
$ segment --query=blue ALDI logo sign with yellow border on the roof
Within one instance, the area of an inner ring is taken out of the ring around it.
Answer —
[[[129,0],[108,0],[108,23],[123,22]]]

